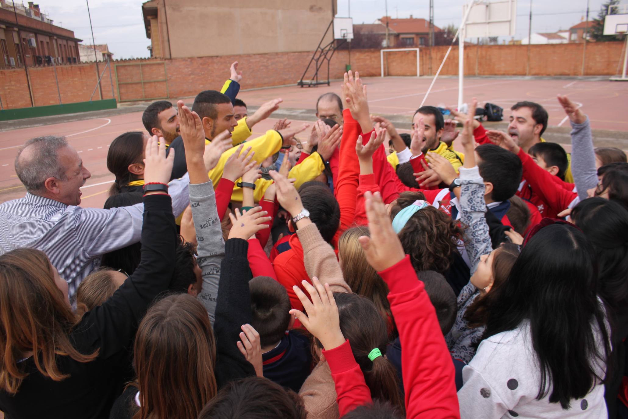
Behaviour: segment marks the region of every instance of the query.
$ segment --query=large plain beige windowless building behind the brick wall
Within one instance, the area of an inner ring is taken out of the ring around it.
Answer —
[[[149,0],[142,4],[151,57],[313,51],[336,0]],[[329,31],[325,41],[332,40]]]

